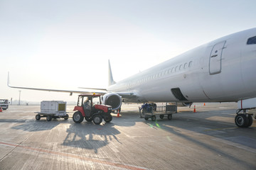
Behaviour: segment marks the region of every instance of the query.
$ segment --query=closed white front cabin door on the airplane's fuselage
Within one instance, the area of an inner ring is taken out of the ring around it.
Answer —
[[[209,73],[218,74],[221,72],[221,57],[224,49],[225,41],[218,42],[213,46],[213,50],[210,52]]]

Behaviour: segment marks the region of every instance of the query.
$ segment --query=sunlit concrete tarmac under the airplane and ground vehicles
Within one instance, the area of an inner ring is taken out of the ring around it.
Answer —
[[[196,105],[196,113],[193,106]],[[172,120],[139,118],[139,104],[100,125],[36,120],[40,106],[0,113],[0,169],[256,169],[256,120],[235,125],[237,103],[195,103]]]

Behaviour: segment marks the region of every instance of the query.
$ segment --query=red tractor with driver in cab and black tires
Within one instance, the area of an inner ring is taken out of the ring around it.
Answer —
[[[78,96],[78,105],[75,106],[73,121],[81,123],[85,118],[87,122],[93,121],[96,125],[102,123],[102,119],[109,123],[112,120],[112,106],[102,105],[99,94],[81,94]]]

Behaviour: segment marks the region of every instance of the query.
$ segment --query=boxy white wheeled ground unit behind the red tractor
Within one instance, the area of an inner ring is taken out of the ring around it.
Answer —
[[[66,112],[66,102],[65,101],[41,101],[41,111],[35,112],[36,120],[40,120],[42,117],[46,117],[47,121],[52,120],[52,118],[64,118],[68,120],[68,112]]]

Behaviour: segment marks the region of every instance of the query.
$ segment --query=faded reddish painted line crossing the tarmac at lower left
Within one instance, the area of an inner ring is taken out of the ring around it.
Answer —
[[[31,151],[42,152],[42,153],[47,153],[47,154],[55,154],[55,155],[60,155],[63,157],[71,157],[71,158],[76,158],[76,159],[80,159],[83,161],[90,161],[90,162],[94,162],[94,163],[105,164],[108,166],[115,166],[115,167],[122,168],[122,169],[148,170],[147,168],[144,168],[144,167],[139,167],[139,166],[134,166],[134,165],[129,165],[129,164],[119,164],[119,163],[114,163],[114,162],[107,162],[107,161],[103,161],[100,159],[92,159],[92,158],[88,158],[88,157],[82,157],[77,154],[69,154],[69,153],[64,153],[64,152],[52,151],[50,149],[42,149],[42,148],[38,148],[38,147],[26,147],[24,145],[16,145],[14,143],[9,143],[9,142],[7,143],[7,142],[0,141],[0,145],[4,145],[7,147],[18,147],[18,148],[28,149]]]

